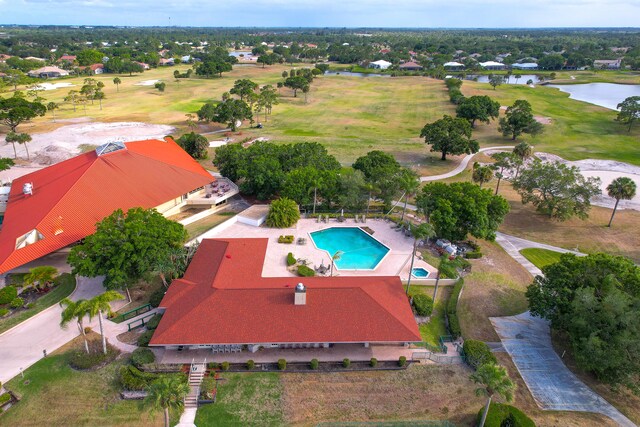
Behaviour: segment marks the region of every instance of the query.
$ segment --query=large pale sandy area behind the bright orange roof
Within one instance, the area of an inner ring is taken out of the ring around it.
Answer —
[[[28,166],[51,165],[71,158],[91,146],[98,146],[109,141],[136,141],[142,139],[162,138],[171,134],[174,128],[166,125],[154,125],[139,122],[117,123],[76,123],[59,127],[47,133],[31,135],[29,143],[31,164]],[[0,135],[4,141],[4,135]],[[81,146],[84,146],[81,148]],[[26,158],[24,147],[18,146],[18,157]],[[13,146],[0,143],[0,157],[13,158]]]

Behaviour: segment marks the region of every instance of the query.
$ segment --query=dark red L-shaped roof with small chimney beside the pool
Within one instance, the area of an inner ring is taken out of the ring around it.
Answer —
[[[421,341],[400,278],[261,277],[267,239],[205,239],[151,345]],[[294,304],[295,286],[307,289]]]

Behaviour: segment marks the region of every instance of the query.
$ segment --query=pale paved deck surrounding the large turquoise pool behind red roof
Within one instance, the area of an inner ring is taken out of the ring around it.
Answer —
[[[353,219],[345,222],[337,222],[332,219],[328,223],[316,222],[315,219],[301,219],[291,228],[268,228],[265,226],[254,227],[247,224],[235,223],[223,230],[215,228],[203,234],[202,238],[268,238],[265,263],[262,268],[263,277],[285,277],[296,274],[287,270],[286,257],[289,252],[296,259],[306,259],[309,267],[331,265],[331,257],[326,251],[317,249],[313,244],[309,233],[324,230],[330,227],[369,227],[374,231],[373,237],[387,246],[390,252],[378,264],[374,270],[340,270],[334,269],[334,276],[400,276],[402,280],[409,277],[411,263],[411,250],[413,238],[406,237],[402,232],[395,230],[395,224],[384,220],[367,220],[366,223],[356,223]],[[306,244],[298,245],[278,243],[278,236],[293,235],[295,242],[302,237]],[[429,276],[434,277],[436,269],[426,262],[416,258],[414,268],[422,267],[429,271]]]

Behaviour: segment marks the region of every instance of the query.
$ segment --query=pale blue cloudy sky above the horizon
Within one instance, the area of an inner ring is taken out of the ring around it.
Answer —
[[[0,0],[0,24],[637,27],[640,0]]]

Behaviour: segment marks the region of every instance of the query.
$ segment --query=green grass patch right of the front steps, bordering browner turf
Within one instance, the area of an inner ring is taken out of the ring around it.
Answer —
[[[201,406],[198,426],[280,426],[284,423],[278,373],[222,373],[216,403]]]

